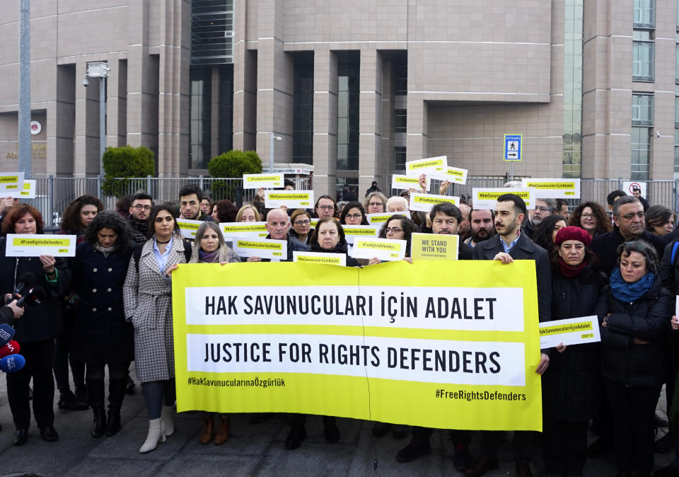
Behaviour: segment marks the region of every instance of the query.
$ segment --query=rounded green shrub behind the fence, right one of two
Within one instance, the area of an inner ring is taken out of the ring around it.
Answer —
[[[234,149],[210,159],[207,171],[214,178],[243,178],[243,174],[259,174],[262,172],[262,159],[255,151]],[[236,181],[215,180],[212,183],[212,197],[233,201],[236,192]]]

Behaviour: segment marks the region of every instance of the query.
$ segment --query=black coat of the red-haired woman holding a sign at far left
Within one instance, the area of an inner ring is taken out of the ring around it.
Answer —
[[[16,335],[14,339],[21,343],[44,341],[58,335],[62,331],[62,309],[59,306],[59,295],[64,294],[71,285],[71,271],[66,260],[56,258],[54,268],[57,269],[57,284],[52,287],[47,282],[45,268],[38,257],[7,257],[5,241],[0,240],[0,292],[11,293],[16,281],[25,272],[35,275],[35,285],[40,286],[47,297],[42,304],[26,306],[23,316],[14,323]]]

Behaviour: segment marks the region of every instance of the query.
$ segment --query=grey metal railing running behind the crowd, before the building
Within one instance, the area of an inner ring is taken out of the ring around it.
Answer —
[[[311,179],[298,177],[291,179],[296,189],[310,188]],[[449,195],[468,196],[472,194],[472,188],[501,188],[506,182],[506,176],[469,176],[465,185],[455,184],[448,189]],[[184,185],[194,184],[208,194],[213,200],[228,199],[240,207],[245,202],[250,202],[255,196],[255,189],[243,189],[242,178],[212,178],[206,176],[178,177],[178,178],[129,178],[116,179],[122,195],[147,192],[156,203],[178,202],[179,191]],[[623,179],[581,179],[581,198],[569,202],[571,206],[579,202],[593,201],[602,205],[606,203],[609,192],[622,189]],[[47,227],[58,226],[61,214],[76,197],[83,194],[100,195],[103,181],[99,177],[72,178],[72,177],[37,177],[35,199],[25,199],[34,205],[43,215]],[[390,190],[388,184],[382,190]],[[439,193],[440,180],[431,180],[429,192]],[[677,180],[647,180],[646,198],[651,205],[665,205],[673,210],[677,209],[679,192],[679,179]],[[397,195],[400,190],[390,190],[390,195]],[[362,200],[363,197],[359,197]],[[115,209],[117,197],[105,197],[104,204],[107,209]]]

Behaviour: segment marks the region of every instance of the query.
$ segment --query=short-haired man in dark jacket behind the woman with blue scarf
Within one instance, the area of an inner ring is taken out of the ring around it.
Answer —
[[[613,231],[594,237],[590,246],[603,272],[610,274],[617,266],[617,246],[635,238],[651,243],[658,256],[663,256],[666,243],[663,238],[646,231],[644,206],[637,197],[625,195],[613,202],[613,224]]]

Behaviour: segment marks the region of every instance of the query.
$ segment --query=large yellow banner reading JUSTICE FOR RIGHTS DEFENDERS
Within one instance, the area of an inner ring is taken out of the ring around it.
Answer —
[[[179,411],[542,429],[532,260],[182,264],[172,282]]]

